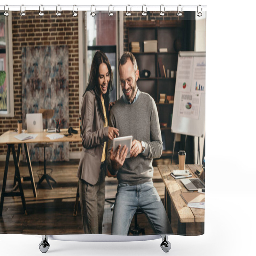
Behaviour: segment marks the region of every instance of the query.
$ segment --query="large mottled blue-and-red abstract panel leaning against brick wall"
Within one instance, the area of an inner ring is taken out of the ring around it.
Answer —
[[[61,120],[60,128],[68,128],[68,46],[23,47],[21,63],[22,127],[27,128],[27,113],[44,108],[54,109],[48,128],[55,128],[57,119]],[[43,148],[28,144],[28,149],[31,161],[44,161]],[[45,157],[47,161],[68,161],[69,143],[53,143],[46,148]]]

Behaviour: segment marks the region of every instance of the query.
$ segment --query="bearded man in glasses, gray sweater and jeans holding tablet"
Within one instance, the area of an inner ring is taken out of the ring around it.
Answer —
[[[139,70],[131,52],[122,55],[119,76],[124,94],[112,107],[109,124],[119,129],[119,136],[132,135],[133,141],[130,152],[125,146],[113,152],[113,142],[108,143],[108,170],[118,180],[111,234],[127,235],[138,208],[146,214],[155,234],[172,234],[152,181],[152,159],[159,158],[163,149],[156,103],[137,87]],[[131,157],[125,159],[127,154]]]

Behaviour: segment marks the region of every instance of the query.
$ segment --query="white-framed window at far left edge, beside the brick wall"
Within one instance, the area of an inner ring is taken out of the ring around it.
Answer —
[[[0,12],[0,114],[14,116],[12,70],[12,14]]]

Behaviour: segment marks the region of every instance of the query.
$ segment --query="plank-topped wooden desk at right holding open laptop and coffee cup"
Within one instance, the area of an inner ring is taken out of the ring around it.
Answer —
[[[180,180],[175,180],[171,175],[171,171],[179,169],[178,165],[158,165],[158,170],[164,181],[164,207],[167,215],[171,221],[171,204],[174,206],[175,212],[178,216],[178,234],[186,235],[186,223],[203,222],[204,223],[204,209],[190,208],[187,206],[183,198],[180,196],[183,192],[188,192]],[[192,174],[191,178],[198,178],[195,171],[201,169],[202,165],[188,164],[186,169]],[[203,226],[204,233],[204,226]]]

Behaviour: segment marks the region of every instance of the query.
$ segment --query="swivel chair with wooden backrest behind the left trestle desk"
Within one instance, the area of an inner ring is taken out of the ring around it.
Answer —
[[[54,109],[39,109],[39,113],[42,113],[43,119],[45,119],[45,129],[47,130],[48,128],[48,119],[52,118],[54,115]],[[45,148],[49,148],[53,145],[53,143],[37,143],[35,147],[37,148],[44,148],[44,168],[37,170],[37,175],[39,178],[39,181],[37,183],[37,186],[42,183],[42,181],[45,179],[49,187],[52,189],[52,184],[50,180],[52,180],[54,183],[56,181],[52,178],[52,168],[46,168],[46,159],[45,159]],[[42,171],[44,171],[42,173]]]

